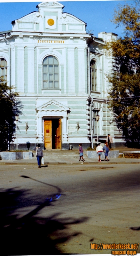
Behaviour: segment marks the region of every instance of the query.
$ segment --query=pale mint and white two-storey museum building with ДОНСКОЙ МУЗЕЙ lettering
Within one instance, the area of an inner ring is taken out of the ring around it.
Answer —
[[[121,135],[107,108],[112,58],[103,49],[116,34],[86,33],[86,23],[63,12],[58,2],[42,2],[38,11],[12,21],[0,32],[0,72],[23,104],[18,148],[83,148],[108,133],[113,146]],[[99,115],[97,122],[96,116]],[[98,129],[98,131],[97,131]],[[16,147],[16,136],[10,149]]]

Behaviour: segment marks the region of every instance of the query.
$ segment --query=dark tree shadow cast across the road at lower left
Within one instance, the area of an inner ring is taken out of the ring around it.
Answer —
[[[0,227],[2,235],[0,255],[62,254],[58,249],[58,244],[65,243],[72,236],[79,234],[69,231],[68,227],[84,222],[87,218],[81,218],[80,220],[61,218],[60,213],[50,216],[50,207],[61,195],[60,188],[58,190],[59,193],[52,194],[45,200],[43,199],[43,202],[34,201],[30,195],[30,190],[27,189],[9,188],[0,190]],[[27,209],[26,214],[24,209],[22,210],[23,207]],[[47,218],[39,217],[39,211],[44,207],[46,207],[45,212],[49,216]],[[31,209],[33,210],[31,211]],[[20,215],[17,212],[20,212]]]

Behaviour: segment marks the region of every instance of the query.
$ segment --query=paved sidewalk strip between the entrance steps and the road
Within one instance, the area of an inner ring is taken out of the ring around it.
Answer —
[[[62,157],[62,156],[44,156],[44,162],[48,164],[66,164],[66,165],[78,165],[78,164],[101,164],[101,165],[110,165],[110,164],[140,164],[140,159],[136,158],[111,158],[110,161],[101,161],[98,162],[98,159],[84,157],[85,162],[79,162],[79,157]],[[0,165],[37,165],[36,157],[33,159],[26,160],[1,160]]]

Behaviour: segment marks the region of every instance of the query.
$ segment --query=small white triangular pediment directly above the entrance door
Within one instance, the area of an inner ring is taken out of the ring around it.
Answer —
[[[57,102],[56,100],[51,100],[45,104],[43,104],[42,106],[37,108],[37,111],[47,111],[47,110],[59,110],[59,111],[67,111],[69,110],[68,107],[64,106],[63,104]]]

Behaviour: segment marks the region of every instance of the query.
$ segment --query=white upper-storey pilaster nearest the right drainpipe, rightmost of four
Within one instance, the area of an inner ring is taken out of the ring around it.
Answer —
[[[85,51],[78,48],[79,93],[85,93]]]

